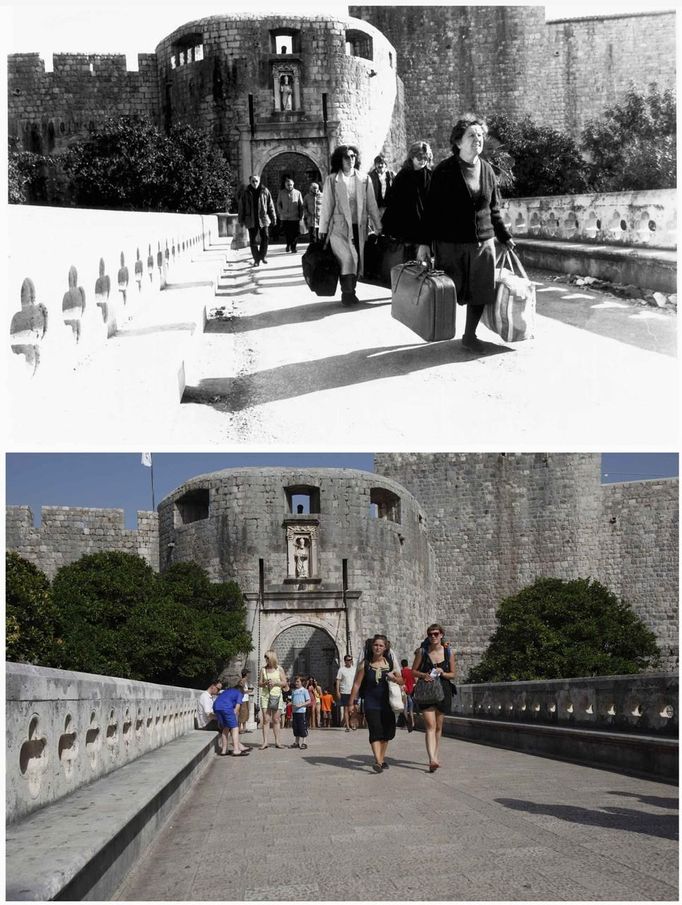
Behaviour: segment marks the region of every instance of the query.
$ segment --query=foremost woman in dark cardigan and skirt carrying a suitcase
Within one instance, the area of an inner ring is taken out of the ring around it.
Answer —
[[[476,327],[485,305],[495,301],[495,237],[508,249],[514,240],[502,222],[495,173],[481,158],[488,127],[467,113],[450,134],[452,157],[433,171],[426,198],[424,234],[417,257],[428,261],[434,245],[436,267],[444,270],[466,305],[462,345],[482,352]]]

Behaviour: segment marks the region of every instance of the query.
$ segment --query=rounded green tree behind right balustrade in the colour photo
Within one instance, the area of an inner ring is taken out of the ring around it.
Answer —
[[[632,610],[589,578],[541,578],[507,597],[469,682],[627,675],[655,667],[660,651]]]

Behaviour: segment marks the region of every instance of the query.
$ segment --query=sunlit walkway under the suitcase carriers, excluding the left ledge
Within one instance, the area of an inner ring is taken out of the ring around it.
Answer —
[[[317,298],[300,255],[245,252],[224,269],[206,332],[188,363],[181,418],[223,443],[358,448],[635,447],[677,437],[677,320],[599,291],[538,280],[537,337],[486,354],[458,338],[424,343],[390,315],[390,292]],[[464,312],[458,309],[456,337]],[[652,389],[655,391],[652,392]]]

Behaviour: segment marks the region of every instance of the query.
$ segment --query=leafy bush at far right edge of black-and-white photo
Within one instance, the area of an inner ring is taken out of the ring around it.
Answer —
[[[646,94],[630,88],[623,103],[587,123],[582,143],[593,191],[675,188],[675,92],[655,82]]]

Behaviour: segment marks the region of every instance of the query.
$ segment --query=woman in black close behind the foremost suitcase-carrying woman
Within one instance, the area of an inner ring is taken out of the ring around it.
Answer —
[[[425,141],[410,145],[407,159],[386,194],[386,210],[381,218],[384,235],[403,242],[405,260],[417,257],[424,232],[422,220],[431,182],[433,151]]]

